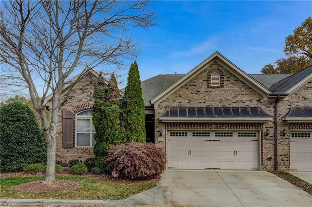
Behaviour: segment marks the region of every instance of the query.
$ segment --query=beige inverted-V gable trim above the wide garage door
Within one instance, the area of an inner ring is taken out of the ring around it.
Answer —
[[[222,56],[219,52],[215,52],[204,61],[202,61],[199,65],[197,65],[194,69],[192,69],[189,73],[181,77],[176,83],[172,84],[170,87],[165,89],[162,93],[158,94],[151,100],[151,104],[154,104],[154,107],[157,107],[157,104],[168,97],[170,94],[174,93],[177,89],[179,89],[183,84],[187,81],[198,75],[202,70],[204,70],[209,64],[213,62],[217,62],[223,67],[225,67],[230,73],[234,74],[237,78],[242,80],[248,86],[253,88],[256,92],[261,94],[265,99],[272,94],[272,92],[267,89],[265,86],[261,85],[258,81],[252,78],[250,75],[246,74],[243,70],[234,65],[230,60],[226,57]]]

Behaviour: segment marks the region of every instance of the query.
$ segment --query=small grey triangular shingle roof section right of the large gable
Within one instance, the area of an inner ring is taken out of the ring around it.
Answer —
[[[278,81],[281,81],[292,74],[250,74],[256,81],[268,89]]]

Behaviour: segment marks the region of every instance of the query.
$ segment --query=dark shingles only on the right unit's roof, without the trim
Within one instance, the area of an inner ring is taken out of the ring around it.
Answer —
[[[286,92],[294,85],[299,83],[303,78],[307,77],[308,75],[312,74],[312,65],[273,84],[269,89],[272,92]]]

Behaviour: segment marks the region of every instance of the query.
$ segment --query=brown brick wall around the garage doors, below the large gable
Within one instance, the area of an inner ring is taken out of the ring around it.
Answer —
[[[207,87],[207,73],[211,69],[220,69],[224,74],[224,86],[219,88]],[[304,87],[292,94],[289,100],[281,100],[278,104],[278,166],[280,170],[289,171],[289,135],[282,136],[284,128],[288,125],[281,121],[289,106],[311,106],[312,105],[312,83],[307,83]],[[265,113],[273,116],[272,121],[264,124],[221,124],[221,123],[161,123],[159,116],[164,113],[169,106],[261,106]],[[155,137],[156,144],[166,148],[166,130],[168,129],[258,129],[261,130],[261,164],[262,170],[274,170],[274,100],[264,100],[263,96],[255,92],[243,81],[227,71],[224,67],[214,62],[176,92],[158,103],[155,111]],[[299,125],[297,128],[300,128]],[[311,128],[311,126],[309,125]],[[308,128],[309,128],[308,127]],[[293,128],[293,127],[292,127]],[[164,131],[164,142],[157,142],[159,129]],[[264,136],[265,131],[270,129],[270,134]],[[289,134],[289,133],[288,133]],[[270,159],[272,157],[273,159]]]

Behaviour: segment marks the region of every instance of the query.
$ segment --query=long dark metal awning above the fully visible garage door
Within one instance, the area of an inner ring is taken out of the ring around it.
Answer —
[[[273,117],[261,107],[167,107],[159,116],[162,122],[258,122]]]

